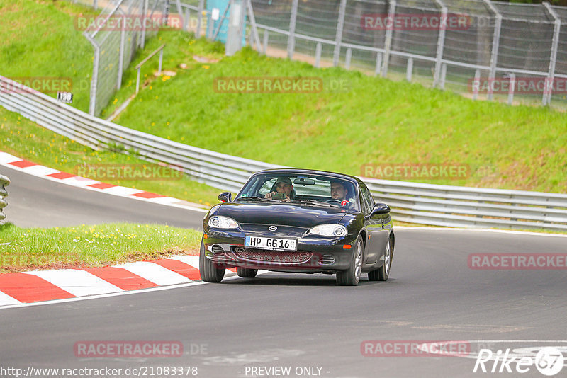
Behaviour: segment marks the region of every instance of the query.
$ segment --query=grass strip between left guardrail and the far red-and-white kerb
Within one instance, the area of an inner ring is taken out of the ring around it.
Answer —
[[[2,107],[0,107],[0,140],[2,141],[0,151],[68,173],[78,174],[78,167],[84,164],[147,164],[147,161],[133,156],[112,151],[96,151],[83,146]],[[147,190],[206,207],[217,203],[217,195],[221,192],[219,189],[191,181],[186,177],[181,180],[93,178],[103,183]]]

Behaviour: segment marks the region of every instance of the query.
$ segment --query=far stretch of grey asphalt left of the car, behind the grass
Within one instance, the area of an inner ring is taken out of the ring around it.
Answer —
[[[11,180],[6,220],[19,227],[66,227],[109,222],[203,228],[203,212],[75,188],[0,166]]]

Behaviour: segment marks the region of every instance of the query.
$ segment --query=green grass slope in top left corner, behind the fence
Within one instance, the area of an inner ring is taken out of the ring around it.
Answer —
[[[99,11],[70,1],[0,1],[0,74],[9,78],[69,78],[72,106],[88,111],[94,51],[74,27],[79,13],[86,16]]]

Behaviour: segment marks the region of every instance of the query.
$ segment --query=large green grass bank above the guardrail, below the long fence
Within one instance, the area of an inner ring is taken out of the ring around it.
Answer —
[[[218,45],[181,32],[162,32],[159,38],[140,56],[167,43],[164,69],[176,71],[176,76],[149,83],[116,120],[120,125],[286,166],[362,175],[364,164],[468,164],[471,176],[466,179],[422,182],[567,190],[563,113],[471,101],[419,84],[262,57],[249,49],[201,64],[191,56],[219,57]],[[188,69],[180,69],[181,63]],[[149,76],[157,59],[152,64]],[[133,75],[128,71],[130,79],[118,92],[116,105],[133,92]],[[316,76],[324,82],[345,80],[350,89],[216,93],[213,81],[223,76]]]

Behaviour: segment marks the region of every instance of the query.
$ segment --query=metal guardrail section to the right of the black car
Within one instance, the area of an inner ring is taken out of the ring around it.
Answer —
[[[364,178],[402,222],[448,227],[567,230],[567,195]]]

